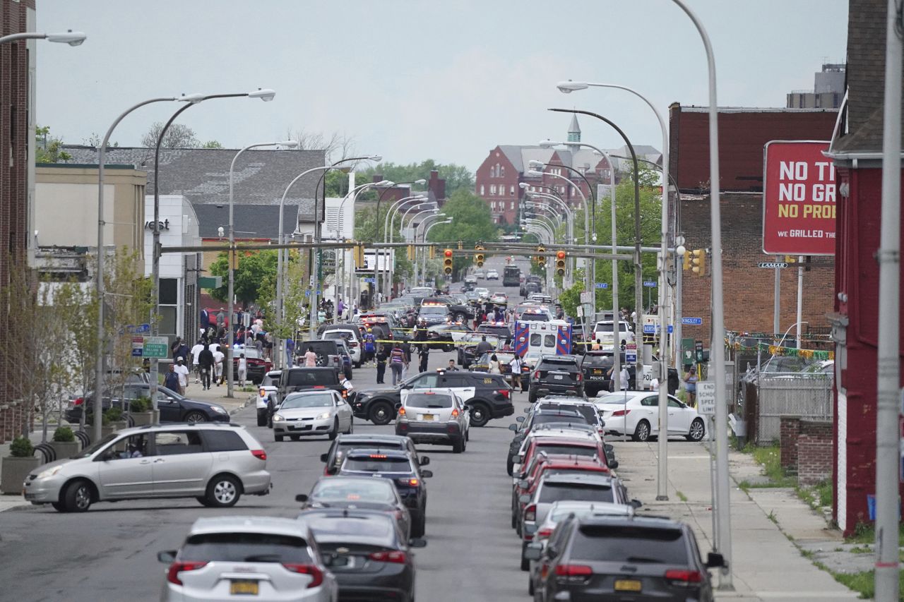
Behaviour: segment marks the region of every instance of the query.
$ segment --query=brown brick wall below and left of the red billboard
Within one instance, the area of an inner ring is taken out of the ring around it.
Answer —
[[[728,330],[771,333],[775,270],[758,268],[760,261],[772,261],[762,249],[763,197],[758,193],[721,194],[722,270],[725,327]],[[687,249],[709,249],[711,246],[709,197],[683,199],[682,230]],[[701,339],[709,345],[711,323],[711,256],[707,256],[707,276],[683,272],[682,314],[702,317],[700,326],[683,325],[684,338]],[[796,322],[797,269],[785,268],[781,273],[782,332]],[[803,319],[809,327],[828,326],[825,315],[832,311],[834,259],[814,257],[810,271],[804,272]],[[806,332],[807,326],[804,326]]]

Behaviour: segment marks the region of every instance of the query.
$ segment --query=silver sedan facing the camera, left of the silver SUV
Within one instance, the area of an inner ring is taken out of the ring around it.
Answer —
[[[306,435],[327,435],[354,431],[352,407],[335,390],[306,390],[290,393],[273,414],[273,438],[297,441]]]

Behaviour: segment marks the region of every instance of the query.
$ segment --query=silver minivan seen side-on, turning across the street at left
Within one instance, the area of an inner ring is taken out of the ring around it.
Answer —
[[[25,478],[25,500],[83,513],[91,503],[195,497],[228,507],[241,494],[270,491],[267,453],[234,424],[126,428],[77,456],[45,464]]]

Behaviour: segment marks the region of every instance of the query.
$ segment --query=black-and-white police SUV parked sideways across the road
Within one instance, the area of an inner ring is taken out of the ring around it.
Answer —
[[[471,426],[483,427],[490,419],[511,416],[512,385],[502,374],[445,371],[421,372],[392,389],[359,392],[352,401],[357,418],[373,424],[389,424],[401,405],[401,390],[451,389],[471,410]]]

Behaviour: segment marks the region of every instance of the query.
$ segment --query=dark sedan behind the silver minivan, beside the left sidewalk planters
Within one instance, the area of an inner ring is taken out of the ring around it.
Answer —
[[[126,385],[126,400],[136,400],[139,397],[150,398],[150,385],[145,383],[130,383]],[[87,421],[91,421],[94,411],[94,400],[90,395],[75,400],[70,409],[66,410],[66,419],[72,424],[78,424],[81,419],[81,410],[87,400]],[[81,402],[81,403],[80,403]],[[123,399],[119,394],[105,395],[102,402],[103,409],[123,408]],[[166,387],[157,387],[157,409],[160,410],[161,422],[229,422],[229,412],[222,406],[207,401],[190,400],[174,390]]]

